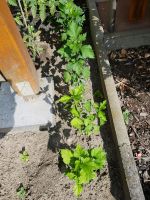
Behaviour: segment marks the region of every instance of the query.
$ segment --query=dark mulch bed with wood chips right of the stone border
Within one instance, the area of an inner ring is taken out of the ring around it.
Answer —
[[[109,55],[133,156],[146,199],[150,199],[150,46]]]

